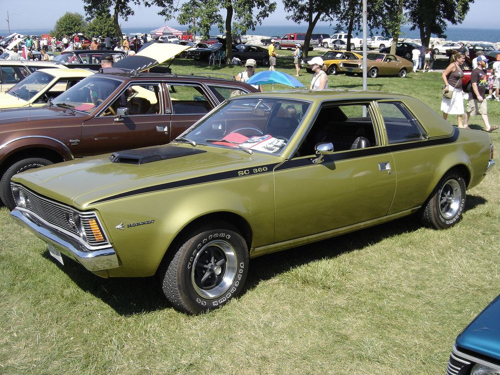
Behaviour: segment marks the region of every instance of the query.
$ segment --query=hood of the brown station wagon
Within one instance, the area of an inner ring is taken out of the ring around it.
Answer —
[[[9,124],[16,124],[12,129],[18,130],[18,123],[22,122],[22,127],[26,127],[26,121],[57,120],[66,119],[68,116],[86,116],[70,109],[48,105],[42,107],[10,108],[0,110],[0,133],[8,131]],[[51,123],[53,125],[53,123]],[[34,123],[31,124],[34,126]]]

